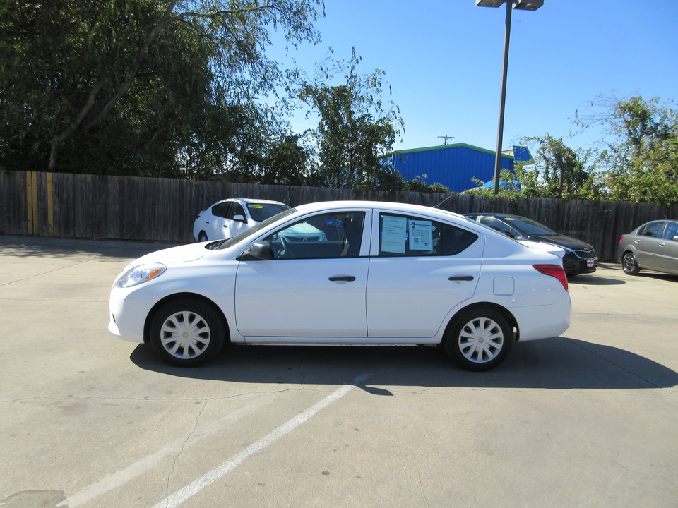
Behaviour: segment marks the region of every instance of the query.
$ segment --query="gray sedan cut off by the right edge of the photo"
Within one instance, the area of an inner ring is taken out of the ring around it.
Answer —
[[[678,220],[646,222],[619,237],[617,261],[629,275],[641,270],[678,275]]]

